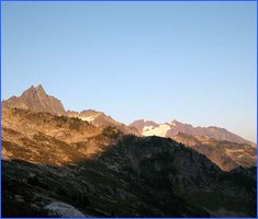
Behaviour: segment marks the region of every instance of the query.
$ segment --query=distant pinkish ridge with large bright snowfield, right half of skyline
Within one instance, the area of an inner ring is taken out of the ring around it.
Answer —
[[[190,136],[205,136],[215,140],[226,140],[236,143],[248,143],[256,147],[256,143],[250,142],[236,134],[233,134],[225,128],[215,126],[209,127],[193,127],[189,124],[182,124],[178,120],[170,123],[157,124],[152,120],[138,119],[130,124],[131,127],[135,127],[143,136],[159,136],[172,138],[179,132],[184,132]]]

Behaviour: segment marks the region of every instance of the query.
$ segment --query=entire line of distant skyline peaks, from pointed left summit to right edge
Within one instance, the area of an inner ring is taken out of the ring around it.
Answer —
[[[190,136],[205,136],[215,140],[226,140],[237,143],[248,143],[256,146],[236,134],[233,134],[225,128],[215,126],[210,127],[193,127],[189,124],[182,124],[178,120],[170,123],[157,124],[152,120],[138,119],[130,124],[128,126],[113,119],[111,116],[106,116],[102,112],[94,110],[87,110],[82,112],[65,111],[61,102],[46,94],[43,87],[40,84],[34,88],[33,85],[24,91],[21,96],[12,96],[7,101],[2,101],[2,105],[11,108],[23,108],[35,112],[46,112],[54,115],[65,115],[69,117],[78,117],[82,120],[87,120],[96,126],[111,125],[123,129],[125,132],[131,132],[142,136],[159,136],[159,137],[173,137],[178,132],[184,132]]]

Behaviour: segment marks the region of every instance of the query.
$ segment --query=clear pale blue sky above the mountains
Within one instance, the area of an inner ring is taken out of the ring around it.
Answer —
[[[1,97],[257,136],[256,2],[2,2]]]

